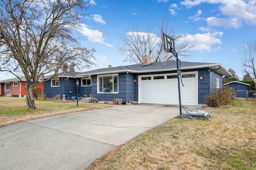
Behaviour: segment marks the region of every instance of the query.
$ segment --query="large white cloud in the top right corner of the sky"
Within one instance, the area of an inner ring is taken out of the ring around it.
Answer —
[[[238,28],[245,23],[247,25],[256,25],[256,0],[184,0],[182,5],[192,8],[203,3],[219,4],[219,10],[222,15],[208,17],[209,26]]]

